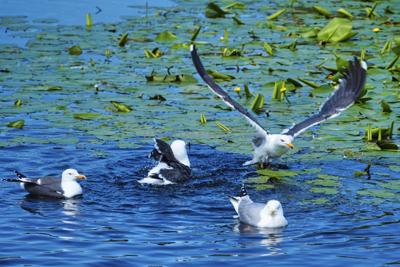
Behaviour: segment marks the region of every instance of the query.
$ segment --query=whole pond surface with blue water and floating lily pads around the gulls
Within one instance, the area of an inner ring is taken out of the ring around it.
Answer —
[[[96,2],[91,8],[104,8],[102,3]],[[99,19],[101,22],[92,14],[94,25],[90,29],[84,22],[86,13],[93,11],[85,8],[72,22],[62,13],[49,11],[49,16],[38,16],[30,14],[29,8],[20,13],[14,8],[8,14],[11,17],[2,17],[0,29],[6,38],[0,44],[0,69],[7,71],[0,72],[1,178],[16,178],[14,170],[28,177],[60,176],[72,167],[88,179],[78,181],[83,195],[73,199],[35,197],[18,183],[1,181],[0,265],[400,264],[398,151],[370,150],[370,144],[362,139],[368,123],[372,128],[388,128],[395,121],[394,129],[398,128],[399,72],[368,70],[366,96],[372,100],[356,103],[339,117],[300,135],[293,143],[294,151],[281,159],[279,169],[260,170],[242,165],[251,159],[252,151],[251,137],[243,135],[253,129],[213,98],[196,74],[187,47],[171,48],[188,44],[194,30],[202,25],[196,40],[206,68],[236,76],[236,80],[219,83],[246,108],[252,99],[243,94],[239,98],[233,92],[235,86],[249,84],[254,94],[264,94],[264,111],[269,110],[269,117],[262,112],[257,118],[267,130],[277,133],[283,126],[310,116],[327,94],[314,92],[314,98],[310,97],[313,89],[304,85],[288,89],[293,103],[288,106],[284,100],[272,99],[272,88],[265,84],[289,77],[327,84],[330,72],[314,66],[327,57],[328,66],[335,66],[333,52],[343,51],[340,55],[346,58],[366,48],[368,64],[387,64],[394,54],[374,54],[375,34],[370,31],[386,18],[384,7],[377,10],[381,19],[364,20],[364,6],[350,1],[349,6],[357,7],[350,9],[358,17],[353,22],[360,32],[357,38],[321,49],[315,45],[316,39],[299,38],[299,50],[291,51],[278,45],[292,42],[294,38],[284,36],[298,28],[276,31],[255,26],[259,20],[266,22],[265,16],[272,13],[267,10],[290,9],[288,4],[244,1],[250,11],[235,10],[246,22],[244,26],[237,26],[231,18],[206,18],[206,4],[177,1],[154,7],[149,2],[151,16],[147,19],[143,18],[144,5],[136,6],[138,11],[116,9],[118,14],[110,20]],[[399,7],[396,2],[388,4]],[[155,11],[164,13],[171,6],[176,12],[154,16]],[[341,6],[332,7],[333,13]],[[299,9],[310,10],[304,6]],[[320,25],[329,22],[304,11],[283,16],[288,23],[281,20],[274,24],[290,27],[291,19],[306,26],[311,21]],[[399,19],[398,15],[391,16],[393,21]],[[56,17],[59,22],[52,20]],[[36,19],[44,22],[34,22]],[[78,20],[82,23],[74,23]],[[384,27],[387,33],[382,35],[386,36],[383,42],[395,31]],[[224,28],[230,35],[228,44],[220,41]],[[261,41],[252,40],[250,28],[257,31]],[[167,29],[178,39],[168,44],[154,42]],[[132,40],[120,47],[113,38],[119,39],[125,32]],[[264,41],[276,44],[275,56],[268,57]],[[248,51],[245,56],[221,56],[220,47],[240,50],[242,42]],[[73,45],[81,46],[83,53],[69,55],[68,48]],[[156,47],[164,54],[146,58],[144,48],[151,51]],[[236,60],[240,72],[236,72]],[[198,82],[146,82],[145,76],[153,68],[156,76],[165,76],[167,66],[173,66],[172,74],[190,75]],[[165,100],[158,103],[156,95]],[[14,105],[18,99],[22,99],[21,106]],[[382,112],[381,100],[394,111]],[[126,104],[133,111],[118,112],[110,101]],[[200,113],[207,119],[205,124],[200,123]],[[24,120],[23,129],[7,127],[17,120]],[[213,120],[236,131],[236,137],[232,132],[221,133]],[[155,164],[147,159],[154,145],[149,135],[154,137],[155,131],[162,132],[163,137],[167,133],[172,139],[190,142],[190,181],[168,186],[137,182]],[[397,130],[391,138],[384,138],[399,143]],[[368,164],[369,171],[362,173]],[[238,195],[242,182],[247,183],[247,191],[256,202],[278,199],[289,225],[262,229],[240,223],[223,193]]]

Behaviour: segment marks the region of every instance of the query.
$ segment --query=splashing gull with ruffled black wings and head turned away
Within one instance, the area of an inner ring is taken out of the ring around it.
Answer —
[[[185,142],[175,140],[171,146],[160,139],[154,139],[154,142],[155,148],[149,157],[158,161],[158,164],[139,183],[166,185],[188,180],[191,171]]]

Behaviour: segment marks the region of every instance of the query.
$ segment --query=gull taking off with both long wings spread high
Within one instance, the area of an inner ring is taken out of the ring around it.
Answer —
[[[350,60],[350,72],[345,70],[346,74],[344,74],[343,78],[339,80],[339,86],[320,106],[317,114],[299,124],[293,125],[290,129],[285,129],[281,134],[271,134],[265,130],[247,110],[230,98],[226,92],[212,80],[204,69],[200,58],[197,55],[196,46],[194,44],[190,45],[190,52],[192,54],[194,66],[203,78],[204,82],[206,82],[208,88],[210,88],[217,96],[222,98],[222,101],[224,101],[230,108],[233,108],[242,114],[257,130],[258,136],[252,140],[254,157],[252,160],[246,161],[243,165],[264,162],[272,163],[272,160],[275,159],[276,167],[278,167],[279,158],[286,153],[289,148],[294,148],[292,145],[294,138],[311,126],[338,116],[340,112],[354,104],[364,88],[367,70],[366,62],[360,62],[356,57],[354,57],[354,62]]]

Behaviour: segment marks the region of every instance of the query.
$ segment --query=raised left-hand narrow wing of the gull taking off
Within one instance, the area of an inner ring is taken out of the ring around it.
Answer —
[[[228,96],[228,94],[226,94],[226,92],[222,90],[222,88],[218,84],[216,84],[214,80],[212,80],[210,75],[208,75],[206,69],[204,69],[204,66],[200,61],[200,58],[196,51],[196,46],[194,44],[190,45],[190,52],[192,54],[193,64],[196,67],[196,70],[200,77],[204,80],[204,82],[206,82],[208,88],[210,88],[210,90],[214,92],[217,96],[222,98],[222,101],[224,101],[226,105],[242,114],[250,122],[250,124],[256,128],[259,135],[263,136],[264,138],[269,135],[270,133],[261,126],[256,118],[254,118],[247,110],[240,106],[238,102],[230,98],[230,96]]]

